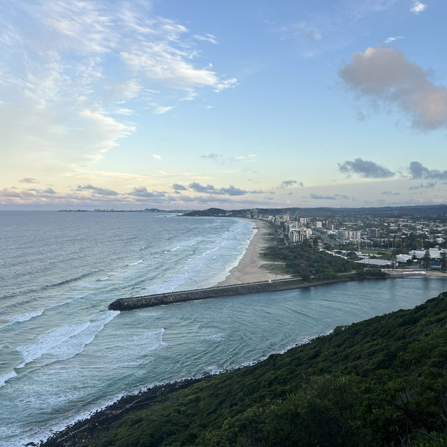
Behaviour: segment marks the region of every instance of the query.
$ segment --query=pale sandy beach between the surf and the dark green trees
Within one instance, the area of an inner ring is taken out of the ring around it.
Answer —
[[[253,226],[258,230],[252,237],[247,250],[240,263],[230,270],[230,274],[217,286],[231,286],[233,284],[245,284],[256,281],[268,281],[269,279],[286,279],[290,275],[270,273],[268,270],[261,268],[261,265],[268,263],[263,261],[259,256],[263,247],[268,244],[266,235],[268,233],[269,224],[265,221],[253,221]]]

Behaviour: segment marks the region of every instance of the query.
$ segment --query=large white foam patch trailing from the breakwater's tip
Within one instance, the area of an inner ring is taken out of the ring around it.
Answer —
[[[42,335],[37,343],[18,347],[17,351],[23,358],[23,362],[18,367],[22,368],[45,354],[55,356],[59,360],[74,357],[84,351],[85,346],[93,342],[96,334],[117,314],[119,314],[117,311],[108,311],[85,323],[51,330]]]

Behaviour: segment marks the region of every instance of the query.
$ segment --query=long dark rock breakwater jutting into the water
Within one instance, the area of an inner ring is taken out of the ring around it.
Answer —
[[[245,295],[247,293],[278,292],[295,288],[306,288],[322,284],[334,284],[337,282],[353,281],[357,279],[354,274],[339,275],[336,279],[303,283],[300,279],[279,279],[275,281],[263,281],[249,284],[237,284],[235,286],[220,286],[210,288],[198,288],[193,291],[179,291],[170,293],[157,293],[135,298],[119,298],[110,303],[109,310],[133,310],[142,307],[154,307],[172,305],[177,302],[205,300],[207,298],[219,298],[224,296]]]

